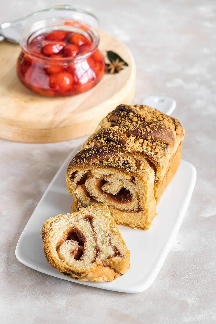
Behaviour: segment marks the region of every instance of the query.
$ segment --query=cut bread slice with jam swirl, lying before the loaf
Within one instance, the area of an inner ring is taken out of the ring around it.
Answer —
[[[49,264],[79,281],[113,281],[130,267],[130,254],[106,204],[47,219],[42,228]]]

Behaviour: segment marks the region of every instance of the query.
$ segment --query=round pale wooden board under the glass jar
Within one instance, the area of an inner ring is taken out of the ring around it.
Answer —
[[[120,103],[130,104],[135,91],[135,63],[128,48],[100,31],[100,50],[117,52],[128,64],[120,73],[105,74],[91,90],[48,98],[24,87],[16,75],[19,45],[0,44],[0,137],[18,142],[65,141],[93,133],[99,121]]]

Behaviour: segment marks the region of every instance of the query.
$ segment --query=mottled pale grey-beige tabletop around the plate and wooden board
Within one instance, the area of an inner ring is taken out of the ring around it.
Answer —
[[[0,22],[52,3],[1,0]],[[15,257],[24,226],[77,141],[0,140],[1,323],[215,323],[216,2],[84,0],[73,5],[96,14],[101,27],[131,49],[137,65],[133,103],[153,94],[176,100],[173,116],[186,129],[182,157],[197,168],[198,179],[150,288],[138,294],[104,291],[39,273]]]

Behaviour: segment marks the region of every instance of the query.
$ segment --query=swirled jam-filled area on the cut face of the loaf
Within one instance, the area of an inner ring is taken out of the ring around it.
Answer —
[[[95,203],[107,203],[110,208],[122,211],[140,211],[138,179],[123,173],[92,168],[76,171],[71,175],[75,194],[86,207]],[[136,185],[135,185],[136,184]]]

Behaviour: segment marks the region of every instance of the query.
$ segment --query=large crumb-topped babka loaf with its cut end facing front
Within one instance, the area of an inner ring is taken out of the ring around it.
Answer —
[[[119,105],[99,124],[67,168],[72,209],[107,203],[118,224],[148,229],[173,178],[184,129],[142,105]]]

